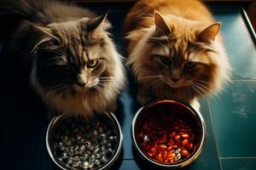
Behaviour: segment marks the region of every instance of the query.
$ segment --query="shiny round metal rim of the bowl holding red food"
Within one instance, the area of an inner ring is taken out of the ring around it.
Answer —
[[[156,105],[159,103],[175,103],[177,105],[182,105],[183,107],[186,107],[187,109],[189,109],[190,111],[194,112],[196,116],[199,117],[200,120],[200,125],[201,125],[201,129],[202,129],[202,136],[201,136],[201,142],[198,146],[198,148],[196,149],[195,153],[189,157],[189,159],[187,159],[186,161],[181,161],[179,163],[172,163],[172,164],[164,164],[164,163],[159,163],[157,161],[153,161],[151,159],[148,158],[148,156],[146,156],[143,151],[140,149],[140,147],[137,144],[137,140],[135,137],[135,124],[137,121],[137,116],[139,116],[140,113],[142,113],[142,111],[148,107],[150,107],[151,105]],[[152,102],[149,102],[146,105],[143,105],[141,108],[139,108],[135,114],[135,116],[133,117],[132,123],[131,123],[131,136],[132,136],[132,142],[133,144],[136,146],[136,149],[139,151],[140,155],[143,156],[143,158],[151,163],[153,163],[154,165],[160,166],[160,167],[184,167],[186,165],[189,165],[192,161],[195,161],[195,159],[201,154],[201,151],[203,150],[203,146],[206,142],[206,136],[207,136],[207,127],[205,124],[205,121],[203,119],[203,116],[201,116],[201,112],[197,111],[192,105],[188,105],[185,104],[183,102],[180,101],[176,101],[176,100],[172,100],[172,99],[158,99],[158,100],[154,100]]]

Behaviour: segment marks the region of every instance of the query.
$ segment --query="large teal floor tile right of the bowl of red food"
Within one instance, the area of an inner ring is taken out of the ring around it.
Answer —
[[[212,100],[221,157],[256,156],[256,81],[234,81]]]

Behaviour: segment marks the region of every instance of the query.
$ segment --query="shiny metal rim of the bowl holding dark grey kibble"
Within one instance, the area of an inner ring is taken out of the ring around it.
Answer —
[[[108,160],[106,165],[104,165],[103,167],[94,168],[94,169],[97,169],[97,170],[102,170],[102,169],[105,169],[105,168],[108,169],[109,167],[111,167],[113,165],[113,163],[118,159],[119,154],[120,154],[121,149],[122,149],[122,146],[123,146],[123,133],[122,133],[122,129],[120,127],[120,124],[119,124],[119,121],[118,121],[117,117],[114,116],[113,112],[105,111],[105,112],[103,112],[103,114],[106,114],[106,115],[110,116],[110,118],[113,118],[113,122],[116,123],[118,131],[119,131],[119,144],[118,144],[118,147],[117,147],[116,152],[115,152],[114,156],[112,157],[112,159]],[[67,167],[63,167],[63,166],[61,166],[61,164],[58,161],[55,161],[55,156],[53,155],[53,153],[52,153],[52,151],[51,151],[51,149],[49,147],[49,131],[50,131],[50,127],[52,127],[54,125],[54,123],[57,122],[62,116],[67,116],[67,115],[66,114],[61,114],[59,116],[54,116],[52,118],[52,120],[49,122],[49,125],[47,127],[47,132],[46,132],[45,140],[46,140],[46,148],[47,148],[47,151],[48,151],[48,154],[49,154],[51,160],[54,161],[55,165],[57,165],[61,169],[67,170]]]

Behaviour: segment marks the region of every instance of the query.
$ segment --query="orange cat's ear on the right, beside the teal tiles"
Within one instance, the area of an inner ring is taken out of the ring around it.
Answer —
[[[198,40],[200,42],[205,42],[205,43],[213,42],[215,40],[215,37],[218,34],[219,27],[220,27],[219,22],[216,22],[211,26],[208,26],[206,29],[201,31],[201,33],[198,35]]]

